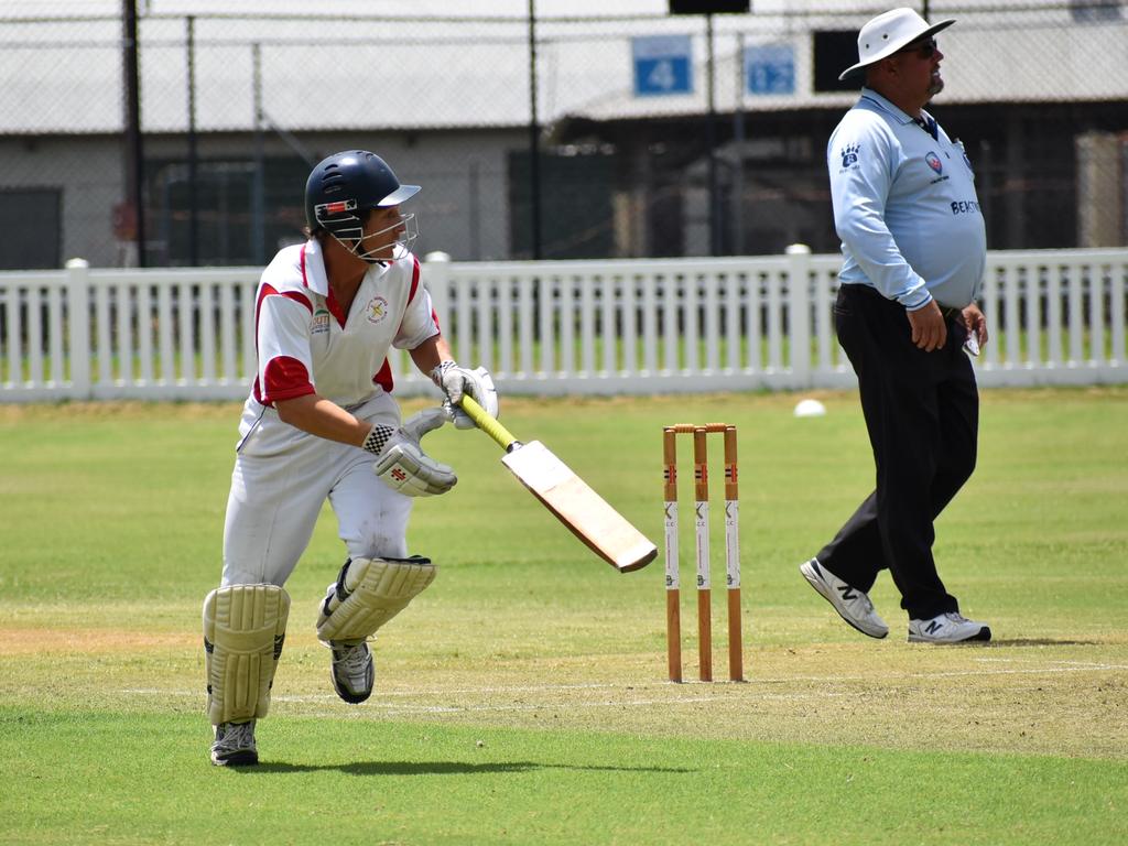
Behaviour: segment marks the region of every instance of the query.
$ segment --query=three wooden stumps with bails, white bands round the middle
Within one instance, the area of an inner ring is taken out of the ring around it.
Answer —
[[[707,435],[724,437],[724,559],[728,585],[729,679],[743,681],[740,615],[740,504],[737,483],[737,428],[726,423],[678,423],[662,430],[666,506],[666,652],[670,681],[681,681],[681,590],[678,553],[679,434],[694,441],[694,528],[697,567],[698,678],[713,680],[713,589],[710,569],[710,495]]]

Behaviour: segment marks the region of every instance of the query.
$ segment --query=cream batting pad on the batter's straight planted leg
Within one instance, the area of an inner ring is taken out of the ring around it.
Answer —
[[[290,597],[275,584],[231,584],[204,599],[208,716],[213,725],[266,716]]]

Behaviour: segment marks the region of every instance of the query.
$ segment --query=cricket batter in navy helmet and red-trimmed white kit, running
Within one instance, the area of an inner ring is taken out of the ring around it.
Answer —
[[[223,574],[203,608],[213,764],[258,761],[255,722],[270,707],[290,609],[283,585],[326,501],[347,559],[318,602],[317,637],[337,695],[371,695],[368,640],[434,578],[429,558],[407,554],[412,497],[456,483],[420,439],[448,420],[473,428],[455,412],[464,393],[497,414],[490,373],[451,359],[408,248],[417,228],[400,204],[418,191],[367,150],[329,156],[306,184],[308,239],[259,280],[257,374],[239,424]],[[431,374],[443,407],[400,423],[393,347]]]

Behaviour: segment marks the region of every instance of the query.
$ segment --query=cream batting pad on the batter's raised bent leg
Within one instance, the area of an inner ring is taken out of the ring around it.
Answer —
[[[429,558],[353,558],[331,584],[317,617],[321,641],[363,641],[434,581]]]

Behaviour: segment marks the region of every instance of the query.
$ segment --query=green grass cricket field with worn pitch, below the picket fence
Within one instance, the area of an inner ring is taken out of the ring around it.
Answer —
[[[208,761],[200,647],[237,405],[0,405],[0,844],[1128,840],[1128,388],[985,393],[936,554],[996,640],[954,647],[905,642],[888,575],[881,642],[799,575],[872,481],[856,397],[816,396],[504,403],[659,546],[661,426],[739,426],[747,684],[667,682],[661,559],[615,573],[447,428],[458,487],[411,530],[439,578],[381,632],[377,693],[340,702],[314,634],[327,511],[245,770]],[[714,652],[724,678],[721,589]]]

